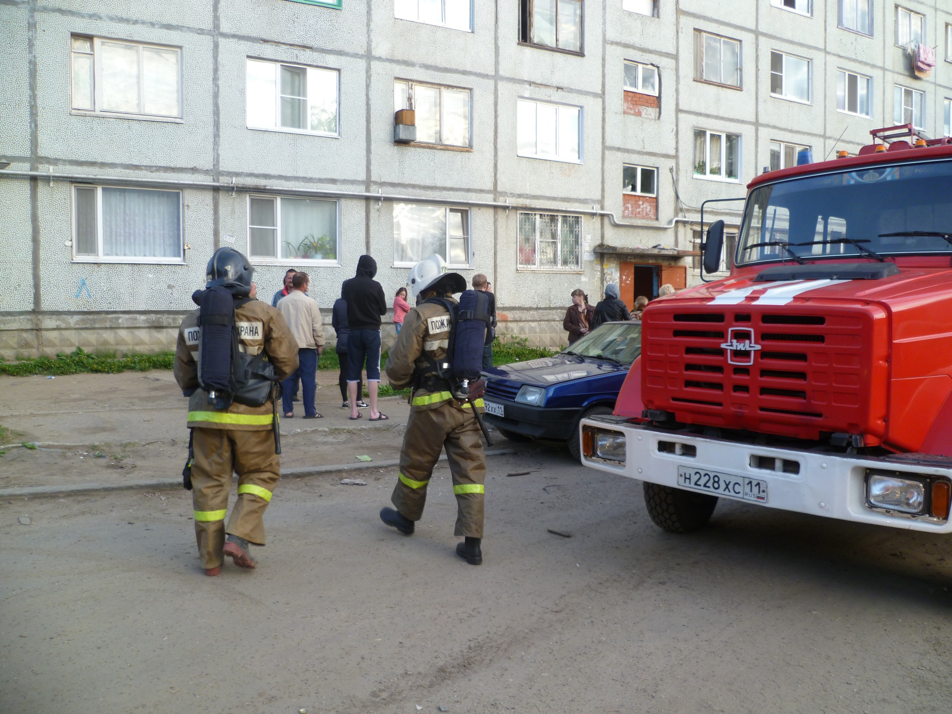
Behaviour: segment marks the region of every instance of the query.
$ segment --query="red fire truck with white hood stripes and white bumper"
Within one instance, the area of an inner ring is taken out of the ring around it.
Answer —
[[[585,466],[645,482],[657,526],[728,498],[952,531],[952,139],[871,133],[754,179],[730,276],[652,302],[614,414],[583,420]]]

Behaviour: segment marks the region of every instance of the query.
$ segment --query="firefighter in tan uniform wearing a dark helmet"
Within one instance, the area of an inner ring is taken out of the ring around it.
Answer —
[[[206,288],[221,286],[232,293],[239,350],[251,355],[264,350],[277,378],[286,379],[298,367],[297,342],[278,310],[247,297],[252,271],[240,252],[219,248],[208,262]],[[174,373],[188,396],[188,428],[192,429],[189,463],[199,558],[206,575],[218,575],[225,555],[235,565],[256,565],[248,544],[265,545],[262,518],[281,476],[281,459],[272,431],[276,426],[273,392],[260,407],[232,402],[226,408],[215,408],[209,401],[209,392],[200,384],[201,366],[207,364],[202,361],[200,312],[189,313],[179,327]],[[223,359],[229,360],[229,355],[230,351]],[[238,500],[226,526],[233,472],[239,477]]]

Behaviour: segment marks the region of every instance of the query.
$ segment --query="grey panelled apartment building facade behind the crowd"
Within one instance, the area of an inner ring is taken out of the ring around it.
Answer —
[[[325,308],[364,252],[391,294],[440,252],[558,345],[574,288],[697,282],[702,202],[764,168],[952,133],[937,1],[6,0],[0,26],[7,358],[170,347],[220,246]]]

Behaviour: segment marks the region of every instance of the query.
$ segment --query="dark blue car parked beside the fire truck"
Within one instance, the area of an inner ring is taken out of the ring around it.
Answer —
[[[641,351],[641,323],[605,323],[554,357],[486,369],[486,422],[512,441],[565,441],[577,459],[579,421],[612,412]]]

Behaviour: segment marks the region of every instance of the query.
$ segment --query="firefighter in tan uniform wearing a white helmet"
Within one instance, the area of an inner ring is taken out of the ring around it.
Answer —
[[[431,297],[456,302],[451,295],[465,290],[466,280],[447,272],[443,258],[432,255],[410,271],[410,289],[418,298],[417,307],[407,312],[386,367],[392,387],[413,387],[410,416],[390,499],[397,507],[383,508],[380,518],[405,535],[413,533],[415,522],[423,517],[433,466],[446,448],[457,504],[454,534],[466,538],[456,546],[456,553],[470,565],[480,565],[486,481],[480,427],[473,407],[454,399],[449,385],[436,373],[435,364],[446,358],[449,313],[442,305],[425,302]],[[473,404],[482,410],[482,399]]]

